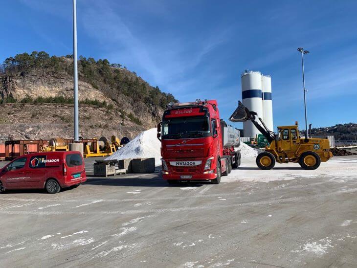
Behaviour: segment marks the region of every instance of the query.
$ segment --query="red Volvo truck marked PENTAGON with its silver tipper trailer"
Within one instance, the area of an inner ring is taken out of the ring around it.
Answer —
[[[216,100],[169,103],[157,125],[162,178],[210,180],[214,184],[241,162],[239,131],[220,118]]]

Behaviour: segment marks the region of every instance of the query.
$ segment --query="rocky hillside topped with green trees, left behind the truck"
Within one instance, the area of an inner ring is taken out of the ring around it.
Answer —
[[[80,135],[133,138],[155,127],[171,94],[108,60],[78,61]],[[45,52],[7,58],[0,69],[0,142],[71,138],[73,59]]]

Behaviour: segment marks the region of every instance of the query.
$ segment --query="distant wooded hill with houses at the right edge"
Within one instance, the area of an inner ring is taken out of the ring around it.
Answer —
[[[312,128],[312,135],[327,136],[334,135],[336,140],[357,140],[357,124],[337,124],[326,128]]]

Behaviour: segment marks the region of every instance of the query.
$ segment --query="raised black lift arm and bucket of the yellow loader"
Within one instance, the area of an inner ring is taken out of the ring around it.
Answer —
[[[264,124],[262,118],[258,117],[256,112],[249,111],[241,101],[238,102],[237,109],[232,113],[229,117],[229,121],[231,122],[245,122],[250,120],[254,126],[267,138],[268,142],[271,143],[275,140],[274,132],[270,131],[267,126]],[[256,120],[256,117],[259,118],[261,124],[259,124]]]

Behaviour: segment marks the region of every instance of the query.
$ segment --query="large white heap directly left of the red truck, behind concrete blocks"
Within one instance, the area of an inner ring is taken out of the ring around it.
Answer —
[[[155,158],[155,165],[161,165],[161,143],[156,137],[156,128],[138,134],[133,140],[120,148],[106,160],[127,158]]]

